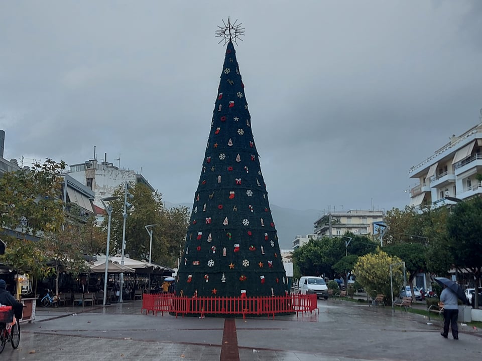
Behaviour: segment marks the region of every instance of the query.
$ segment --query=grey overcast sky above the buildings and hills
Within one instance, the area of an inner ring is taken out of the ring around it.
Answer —
[[[482,2],[2,1],[5,158],[121,154],[192,203],[228,16],[272,204],[404,207],[416,165],[479,122]]]

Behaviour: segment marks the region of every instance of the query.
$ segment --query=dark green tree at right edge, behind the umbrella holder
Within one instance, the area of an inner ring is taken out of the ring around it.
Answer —
[[[465,269],[475,283],[475,307],[482,277],[482,198],[457,203],[447,222],[446,251],[453,256],[454,266]]]

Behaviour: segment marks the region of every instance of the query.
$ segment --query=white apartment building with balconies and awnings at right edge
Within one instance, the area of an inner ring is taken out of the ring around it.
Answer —
[[[410,206],[439,207],[454,203],[453,198],[482,193],[478,173],[482,174],[482,123],[452,135],[450,142],[410,168],[410,178],[418,181],[410,190]]]

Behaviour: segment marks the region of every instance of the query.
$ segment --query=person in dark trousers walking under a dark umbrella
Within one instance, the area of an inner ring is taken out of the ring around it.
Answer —
[[[442,337],[448,337],[448,327],[452,328],[453,339],[458,339],[458,301],[460,300],[467,304],[467,298],[462,288],[455,282],[444,277],[435,277],[435,281],[442,285],[443,291],[440,293],[440,303],[443,305],[443,332],[440,332]]]

